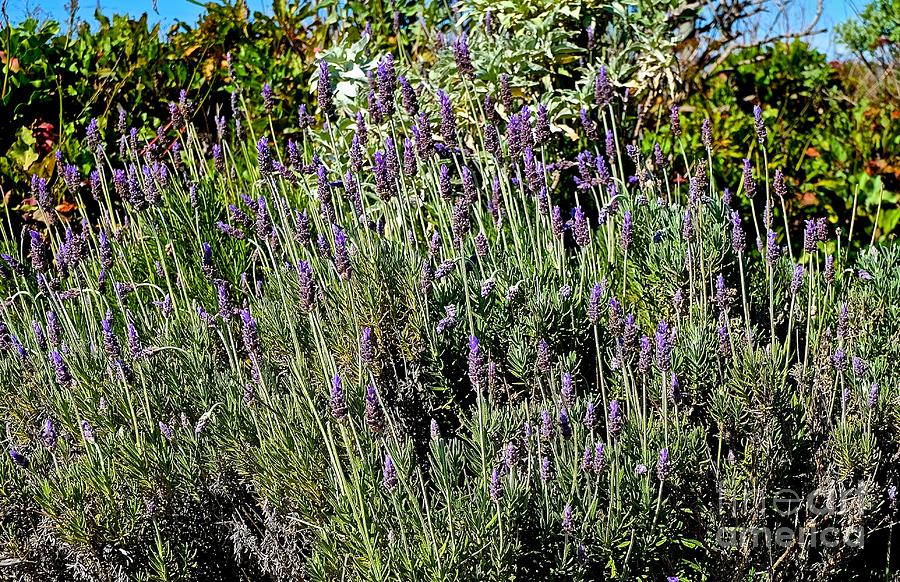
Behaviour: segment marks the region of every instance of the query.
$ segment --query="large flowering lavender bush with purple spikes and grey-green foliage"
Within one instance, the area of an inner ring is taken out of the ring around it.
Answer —
[[[237,99],[201,133],[186,94],[149,143],[100,120],[90,176],[36,185],[98,212],[4,230],[20,578],[854,567],[856,543],[723,543],[797,520],[864,531],[883,570],[900,250],[850,256],[846,227],[811,221],[795,254],[776,168],[716,183],[677,107],[671,149],[641,151],[605,69],[565,117],[486,81],[476,40],[444,49],[453,78],[321,60],[285,136],[242,129]],[[850,487],[830,512],[758,511]]]

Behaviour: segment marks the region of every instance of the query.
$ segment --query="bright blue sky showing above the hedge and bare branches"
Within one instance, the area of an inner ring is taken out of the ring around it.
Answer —
[[[205,1],[205,0],[201,0]],[[267,11],[271,0],[248,0],[250,9],[253,11]],[[784,0],[771,0],[772,6],[783,3]],[[822,34],[813,39],[813,44],[831,55],[840,53],[840,48],[836,47],[831,39],[830,30],[835,24],[852,19],[865,6],[867,0],[824,0],[824,12],[820,21],[821,28],[829,29],[829,32]],[[10,18],[15,22],[22,20],[28,15],[40,17],[51,17],[56,20],[65,20],[67,18],[66,10],[67,2],[65,0],[8,0],[7,10]],[[193,23],[197,15],[202,12],[202,7],[197,6],[188,0],[158,0],[156,10],[149,0],[82,0],[79,9],[79,16],[84,20],[92,20],[92,16],[97,6],[106,13],[128,13],[132,16],[138,16],[146,12],[151,21],[161,22],[165,25],[171,24],[176,20]],[[815,13],[816,0],[794,0],[791,16],[788,19],[792,25],[802,21],[804,15],[812,15]],[[784,19],[782,19],[784,20]],[[783,26],[784,22],[781,23]],[[778,26],[778,25],[776,25]]]

